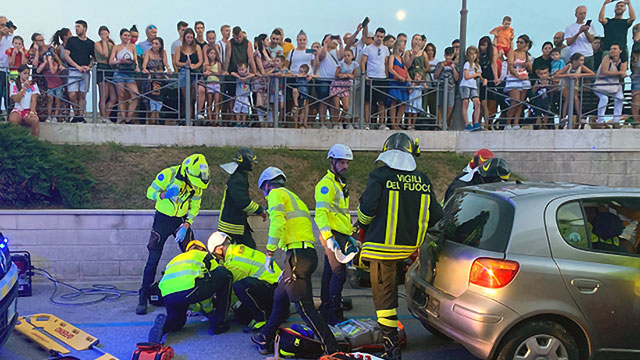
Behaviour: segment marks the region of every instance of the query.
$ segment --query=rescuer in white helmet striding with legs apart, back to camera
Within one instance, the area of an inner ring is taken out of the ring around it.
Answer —
[[[338,343],[313,304],[311,275],[318,266],[318,256],[311,215],[298,195],[284,187],[285,181],[284,173],[275,167],[265,169],[258,180],[258,187],[269,204],[271,220],[265,260],[267,271],[275,271],[273,255],[278,248],[286,251],[286,257],[273,295],[271,316],[251,340],[258,345],[261,354],[273,351],[276,330],[289,316],[289,302],[292,301],[298,314],[320,339],[323,351],[333,354],[338,350]]]

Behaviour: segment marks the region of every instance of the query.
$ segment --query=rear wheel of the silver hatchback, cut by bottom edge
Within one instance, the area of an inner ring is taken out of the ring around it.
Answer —
[[[567,329],[553,321],[534,320],[512,329],[496,350],[495,359],[524,359],[528,351],[537,354],[538,357],[532,358],[546,359],[545,354],[553,349],[561,360],[578,360],[580,357],[578,345]]]

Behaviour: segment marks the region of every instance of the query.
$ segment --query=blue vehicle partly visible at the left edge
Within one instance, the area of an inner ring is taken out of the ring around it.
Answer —
[[[18,319],[18,267],[11,262],[9,239],[0,233],[0,348]]]

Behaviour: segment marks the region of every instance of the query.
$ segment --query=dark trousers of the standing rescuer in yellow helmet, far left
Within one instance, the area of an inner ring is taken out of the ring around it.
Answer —
[[[176,231],[184,223],[185,218],[168,216],[159,211],[153,218],[153,226],[151,228],[151,236],[149,237],[149,243],[147,244],[147,250],[149,250],[149,257],[147,263],[144,266],[144,272],[142,274],[142,289],[148,289],[156,278],[156,271],[158,270],[158,264],[160,263],[160,257],[162,257],[162,249],[167,238],[171,235],[175,236]],[[191,227],[187,230],[187,235],[180,243],[180,249],[185,251],[185,248],[189,241],[193,239],[193,232]]]

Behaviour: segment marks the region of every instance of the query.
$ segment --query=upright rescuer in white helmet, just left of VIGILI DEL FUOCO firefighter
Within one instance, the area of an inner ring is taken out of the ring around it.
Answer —
[[[330,325],[345,321],[342,311],[342,288],[347,279],[347,266],[358,252],[349,215],[349,189],[345,176],[351,149],[336,144],[329,149],[329,170],[316,185],[316,216],[320,240],[325,248],[320,314]]]

